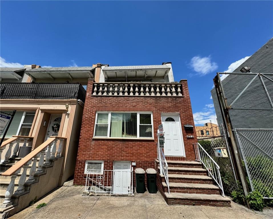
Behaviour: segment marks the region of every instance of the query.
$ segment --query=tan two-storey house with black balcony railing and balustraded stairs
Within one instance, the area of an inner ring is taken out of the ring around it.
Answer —
[[[36,67],[0,68],[1,114],[17,110],[1,145],[1,212],[9,215],[74,174],[84,86],[100,71]]]

